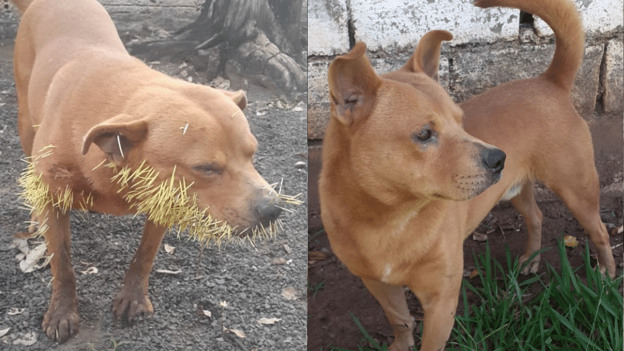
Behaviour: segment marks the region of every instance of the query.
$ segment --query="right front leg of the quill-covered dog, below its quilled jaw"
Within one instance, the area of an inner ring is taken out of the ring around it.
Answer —
[[[146,220],[141,244],[132,257],[130,269],[125,273],[123,287],[113,303],[113,312],[117,319],[126,316],[129,322],[143,312],[152,314],[154,307],[148,296],[150,271],[167,228]]]

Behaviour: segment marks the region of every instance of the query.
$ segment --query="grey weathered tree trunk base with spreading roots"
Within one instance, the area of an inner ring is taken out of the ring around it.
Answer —
[[[205,0],[198,19],[174,37],[131,43],[129,49],[190,59],[207,78],[222,75],[239,87],[254,83],[279,94],[304,92],[302,1]]]

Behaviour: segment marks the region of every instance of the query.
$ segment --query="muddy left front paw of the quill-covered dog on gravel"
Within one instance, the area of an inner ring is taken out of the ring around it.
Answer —
[[[78,333],[80,323],[76,301],[52,299],[44,316],[42,328],[46,335],[58,343],[64,343]]]

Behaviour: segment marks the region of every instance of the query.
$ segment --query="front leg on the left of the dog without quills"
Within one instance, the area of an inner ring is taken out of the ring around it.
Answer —
[[[414,318],[410,316],[403,286],[389,285],[364,278],[362,278],[362,282],[383,307],[385,316],[392,327],[392,332],[395,333],[395,341],[390,345],[388,351],[411,351],[414,347],[412,332],[416,323]]]

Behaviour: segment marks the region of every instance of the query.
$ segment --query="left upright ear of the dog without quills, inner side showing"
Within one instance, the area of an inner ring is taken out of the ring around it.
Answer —
[[[329,99],[336,117],[345,126],[365,119],[372,111],[381,78],[364,55],[366,44],[358,42],[329,65]]]

